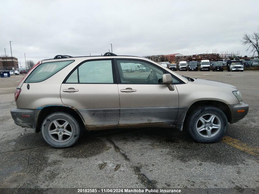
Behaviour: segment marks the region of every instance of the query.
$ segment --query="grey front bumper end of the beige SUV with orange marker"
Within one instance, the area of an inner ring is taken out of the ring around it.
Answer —
[[[231,112],[231,122],[232,123],[236,123],[239,120],[241,120],[242,118],[244,118],[247,113],[248,113],[248,109],[249,109],[249,105],[246,104],[245,102],[240,102],[240,104],[235,104],[235,105],[228,105],[230,112]],[[244,110],[244,112],[237,112],[238,110]]]

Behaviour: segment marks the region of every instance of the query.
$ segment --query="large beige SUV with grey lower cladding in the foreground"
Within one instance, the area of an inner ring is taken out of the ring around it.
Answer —
[[[129,74],[122,69],[125,63],[150,71]],[[235,86],[181,76],[149,59],[113,53],[42,60],[14,95],[14,123],[41,132],[53,147],[74,145],[83,130],[129,127],[184,129],[197,142],[212,143],[249,109]]]

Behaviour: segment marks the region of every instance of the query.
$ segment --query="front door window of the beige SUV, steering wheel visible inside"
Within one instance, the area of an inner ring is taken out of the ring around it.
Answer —
[[[134,60],[117,60],[121,83],[162,84],[163,70],[150,63]]]

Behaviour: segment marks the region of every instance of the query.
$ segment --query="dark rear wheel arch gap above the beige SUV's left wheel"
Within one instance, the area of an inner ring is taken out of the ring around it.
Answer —
[[[48,107],[42,108],[37,116],[36,130],[35,130],[37,133],[40,132],[41,124],[42,124],[43,120],[46,118],[46,116],[48,116],[54,112],[69,113],[78,120],[81,127],[86,126],[85,120],[83,119],[80,112],[78,112],[78,110],[76,110],[74,108],[65,107],[65,106],[48,106]]]

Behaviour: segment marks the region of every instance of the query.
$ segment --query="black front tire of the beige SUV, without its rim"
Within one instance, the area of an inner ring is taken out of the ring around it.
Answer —
[[[221,127],[219,131],[212,137],[203,137],[196,130],[196,124],[199,122],[198,119],[206,114],[214,114],[217,116],[221,122]],[[215,106],[202,105],[194,110],[192,110],[185,122],[186,129],[192,138],[200,143],[213,143],[218,142],[225,135],[228,127],[227,116],[225,113]]]

